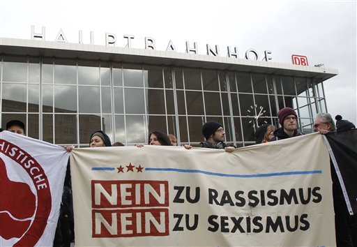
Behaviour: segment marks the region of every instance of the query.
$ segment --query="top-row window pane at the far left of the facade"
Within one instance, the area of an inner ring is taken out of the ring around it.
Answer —
[[[3,82],[27,82],[25,57],[3,57]]]

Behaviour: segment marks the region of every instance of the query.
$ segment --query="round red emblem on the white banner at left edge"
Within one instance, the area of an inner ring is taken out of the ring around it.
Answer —
[[[51,212],[50,184],[38,162],[0,140],[0,240],[4,246],[35,246]]]

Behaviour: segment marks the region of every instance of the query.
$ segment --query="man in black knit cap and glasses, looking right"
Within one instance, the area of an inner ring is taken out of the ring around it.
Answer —
[[[208,149],[225,149],[226,152],[234,151],[234,147],[227,147],[225,144],[225,130],[216,121],[208,121],[202,126],[202,134],[206,140],[201,142],[201,147]]]

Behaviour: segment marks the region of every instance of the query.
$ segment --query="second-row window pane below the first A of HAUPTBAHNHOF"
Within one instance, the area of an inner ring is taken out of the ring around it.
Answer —
[[[77,112],[77,87],[54,86],[54,111]]]

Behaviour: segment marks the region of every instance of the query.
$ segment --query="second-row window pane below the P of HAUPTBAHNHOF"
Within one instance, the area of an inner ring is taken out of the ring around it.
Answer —
[[[99,87],[78,87],[79,113],[100,113]]]

